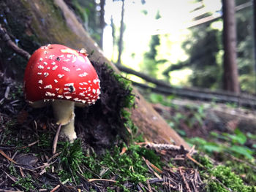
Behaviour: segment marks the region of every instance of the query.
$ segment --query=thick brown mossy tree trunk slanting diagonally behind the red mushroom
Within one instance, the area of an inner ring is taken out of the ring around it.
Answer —
[[[105,58],[102,50],[89,37],[83,25],[78,22],[75,14],[63,0],[54,0],[51,3],[37,0],[0,1],[0,12],[5,9],[8,11],[6,16],[11,15],[8,20],[12,20],[7,27],[11,33],[13,31],[13,34],[18,31],[15,38],[20,39],[24,49],[31,45],[31,53],[34,50],[33,45],[36,40],[39,45],[58,43],[76,50],[84,47],[88,53],[93,53],[90,56],[91,61],[97,61],[99,64],[109,64],[116,73],[119,73],[116,66]],[[26,15],[29,15],[29,17],[26,17]],[[12,26],[12,23],[15,23],[15,25]],[[26,38],[23,38],[23,36]],[[35,39],[36,37],[37,39]],[[136,89],[133,90],[133,93],[136,96],[135,104],[137,106],[132,110],[132,120],[148,141],[175,142],[176,145],[184,145],[184,147],[189,148],[187,143],[168,126],[165,120],[143,99],[143,96]]]

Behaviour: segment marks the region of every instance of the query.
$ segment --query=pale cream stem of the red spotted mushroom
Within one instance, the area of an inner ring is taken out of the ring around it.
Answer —
[[[52,102],[53,115],[56,123],[64,125],[61,128],[61,133],[66,136],[70,142],[77,138],[75,133],[75,102],[66,100],[55,100]]]

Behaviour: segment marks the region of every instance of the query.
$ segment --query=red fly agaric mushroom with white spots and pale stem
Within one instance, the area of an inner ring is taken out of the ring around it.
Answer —
[[[24,95],[32,107],[52,104],[57,124],[73,142],[75,106],[84,107],[99,99],[99,77],[86,50],[64,45],[47,45],[36,50],[26,66]]]

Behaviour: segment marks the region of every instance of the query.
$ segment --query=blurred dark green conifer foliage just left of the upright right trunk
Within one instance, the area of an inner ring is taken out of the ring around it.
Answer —
[[[199,26],[192,28],[192,38],[184,42],[184,50],[190,55],[185,63],[193,70],[189,77],[193,86],[211,88],[217,85],[220,88],[222,68],[217,63],[220,37],[221,32],[210,25]]]

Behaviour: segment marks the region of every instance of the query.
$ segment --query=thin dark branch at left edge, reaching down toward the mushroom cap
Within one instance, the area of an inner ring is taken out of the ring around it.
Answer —
[[[0,38],[7,44],[8,47],[14,50],[15,53],[29,60],[31,55],[28,52],[26,52],[26,50],[20,49],[20,47],[18,47],[14,42],[12,42],[12,39],[7,34],[7,30],[5,28],[2,28],[1,24],[0,24]]]

